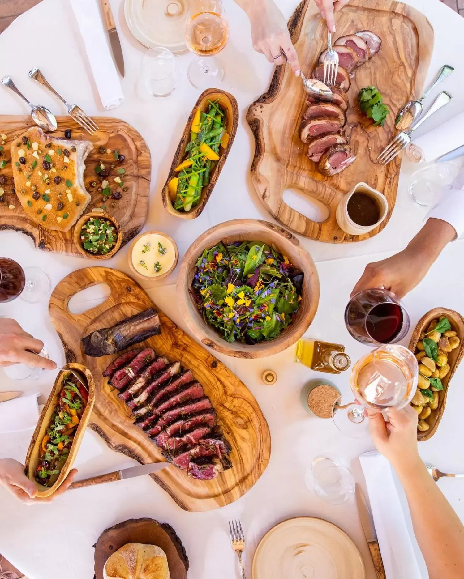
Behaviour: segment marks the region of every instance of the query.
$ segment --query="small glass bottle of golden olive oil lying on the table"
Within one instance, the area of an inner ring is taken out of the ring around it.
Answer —
[[[339,374],[351,364],[345,346],[303,338],[298,340],[295,362],[300,362],[316,372]]]

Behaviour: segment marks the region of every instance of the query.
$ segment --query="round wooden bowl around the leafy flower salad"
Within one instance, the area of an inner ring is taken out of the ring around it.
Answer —
[[[274,245],[288,257],[290,263],[299,267],[305,274],[300,307],[294,314],[291,324],[277,338],[263,340],[255,345],[226,342],[211,325],[205,323],[189,291],[196,273],[196,261],[206,248],[214,247],[220,241],[231,243],[246,240],[263,241],[268,245]],[[299,240],[286,229],[267,221],[235,219],[215,225],[200,235],[188,248],[177,277],[177,300],[190,331],[203,345],[236,358],[262,358],[290,347],[309,328],[319,304],[319,276],[311,256],[301,247]]]

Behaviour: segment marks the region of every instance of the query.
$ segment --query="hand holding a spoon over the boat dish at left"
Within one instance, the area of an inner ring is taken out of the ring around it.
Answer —
[[[0,366],[22,362],[36,368],[55,369],[53,360],[38,356],[42,348],[43,342],[25,332],[16,320],[0,318]]]

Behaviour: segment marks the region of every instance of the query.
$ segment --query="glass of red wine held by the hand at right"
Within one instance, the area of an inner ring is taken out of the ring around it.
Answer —
[[[394,344],[408,333],[410,319],[400,299],[383,289],[363,290],[345,309],[349,333],[363,344]]]

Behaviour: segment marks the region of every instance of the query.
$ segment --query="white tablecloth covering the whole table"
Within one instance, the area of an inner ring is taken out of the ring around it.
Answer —
[[[286,17],[295,8],[294,0],[280,0],[277,3]],[[173,236],[178,243],[180,259],[192,241],[215,223],[243,217],[272,221],[255,203],[251,190],[249,166],[254,143],[245,120],[248,105],[268,87],[272,65],[260,54],[253,52],[246,15],[232,0],[225,0],[225,4],[231,37],[220,55],[226,69],[222,88],[231,91],[239,102],[239,129],[228,162],[206,210],[198,219],[181,221],[166,214],[160,199],[160,189],[165,182],[187,115],[198,96],[198,91],[188,85],[185,74],[192,56],[184,54],[177,57],[179,83],[171,97],[148,101],[138,99],[135,85],[145,49],[131,38],[127,30],[123,20],[122,0],[111,1],[126,63],[126,78],[123,80],[125,102],[112,111],[112,115],[132,124],[151,149],[152,188],[147,228],[162,229]],[[445,81],[446,86],[445,83],[441,85],[453,94],[454,100],[426,124],[426,127],[433,128],[463,109],[464,94],[459,90],[463,78],[462,59],[452,61],[451,55],[464,53],[464,20],[438,0],[411,0],[411,4],[422,9],[435,31],[429,79],[444,63],[456,68],[454,74]],[[59,43],[54,43],[53,54],[50,53],[48,42],[36,42],[36,31],[50,30],[52,23],[53,35],[59,38]],[[0,36],[0,52],[5,55],[0,59],[0,76],[11,74],[17,86],[31,101],[41,102],[56,113],[65,113],[62,105],[48,91],[28,79],[28,71],[38,66],[46,78],[57,89],[61,89],[61,93],[70,95],[69,99],[78,102],[87,113],[108,115],[96,105],[100,101],[96,98],[96,88],[92,76],[88,74],[88,63],[78,28],[66,1],[43,0],[30,12],[20,16]],[[3,113],[28,112],[24,103],[6,90],[0,90],[0,107]],[[418,133],[423,130],[421,127]],[[366,263],[385,255],[380,252],[392,252],[404,247],[421,227],[425,211],[413,206],[407,197],[410,175],[416,168],[407,160],[403,161],[396,207],[388,226],[378,236],[349,245],[302,240],[315,261],[319,262],[317,269],[321,283],[319,310],[308,336],[344,343],[352,360],[356,360],[367,349],[349,337],[343,322],[344,307]],[[462,241],[447,247],[422,284],[405,299],[412,327],[424,312],[435,306],[451,307],[464,312],[463,250]],[[93,262],[85,259],[35,250],[28,237],[16,232],[0,233],[0,253],[16,259],[23,266],[34,264],[43,267],[49,273],[53,286],[72,270],[93,265]],[[127,249],[121,250],[105,265],[129,273]],[[149,294],[161,309],[185,329],[174,299],[175,281],[176,272],[171,274],[162,287],[149,291]],[[18,299],[0,306],[0,315],[15,317],[24,329],[48,344],[59,364],[64,362],[60,340],[48,317],[48,303],[32,305]],[[149,516],[168,522],[176,529],[191,563],[189,577],[235,579],[238,577],[238,568],[229,544],[228,519],[239,517],[242,521],[247,541],[244,559],[247,576],[251,577],[254,548],[266,530],[291,516],[314,515],[341,526],[355,540],[366,562],[367,577],[374,579],[375,573],[361,533],[355,503],[341,506],[324,503],[306,489],[304,483],[304,471],[312,457],[324,452],[335,452],[345,460],[352,461],[353,473],[360,480],[360,468],[355,459],[361,452],[371,448],[371,444],[344,437],[330,420],[324,421],[309,415],[301,404],[301,391],[308,380],[322,375],[295,365],[293,356],[293,348],[271,358],[258,360],[220,356],[249,386],[271,430],[272,456],[269,466],[260,481],[242,499],[220,510],[188,513],[180,510],[149,477],[70,492],[53,504],[33,507],[19,504],[0,490],[0,552],[30,579],[90,578],[93,575],[92,545],[100,533],[125,519]],[[277,372],[278,380],[274,386],[261,383],[260,375],[266,368]],[[0,390],[41,390],[43,395],[49,393],[54,378],[54,375],[44,375],[38,382],[26,380],[19,384],[6,379],[3,373],[0,376]],[[453,379],[439,430],[430,441],[420,445],[423,459],[439,465],[445,471],[462,470],[464,467],[464,448],[459,443],[462,427],[459,384],[463,376],[464,365]],[[349,391],[348,376],[335,376],[334,382],[343,391]],[[131,463],[130,459],[111,452],[103,442],[96,440],[102,447],[102,454],[98,459],[83,464],[79,477],[108,472]],[[459,500],[464,483],[440,481],[439,484],[456,512],[464,519],[464,506]],[[50,528],[56,530],[57,522],[60,527],[58,547],[52,546],[54,540],[46,532]],[[50,555],[47,555],[50,553],[53,565],[50,565]]]

